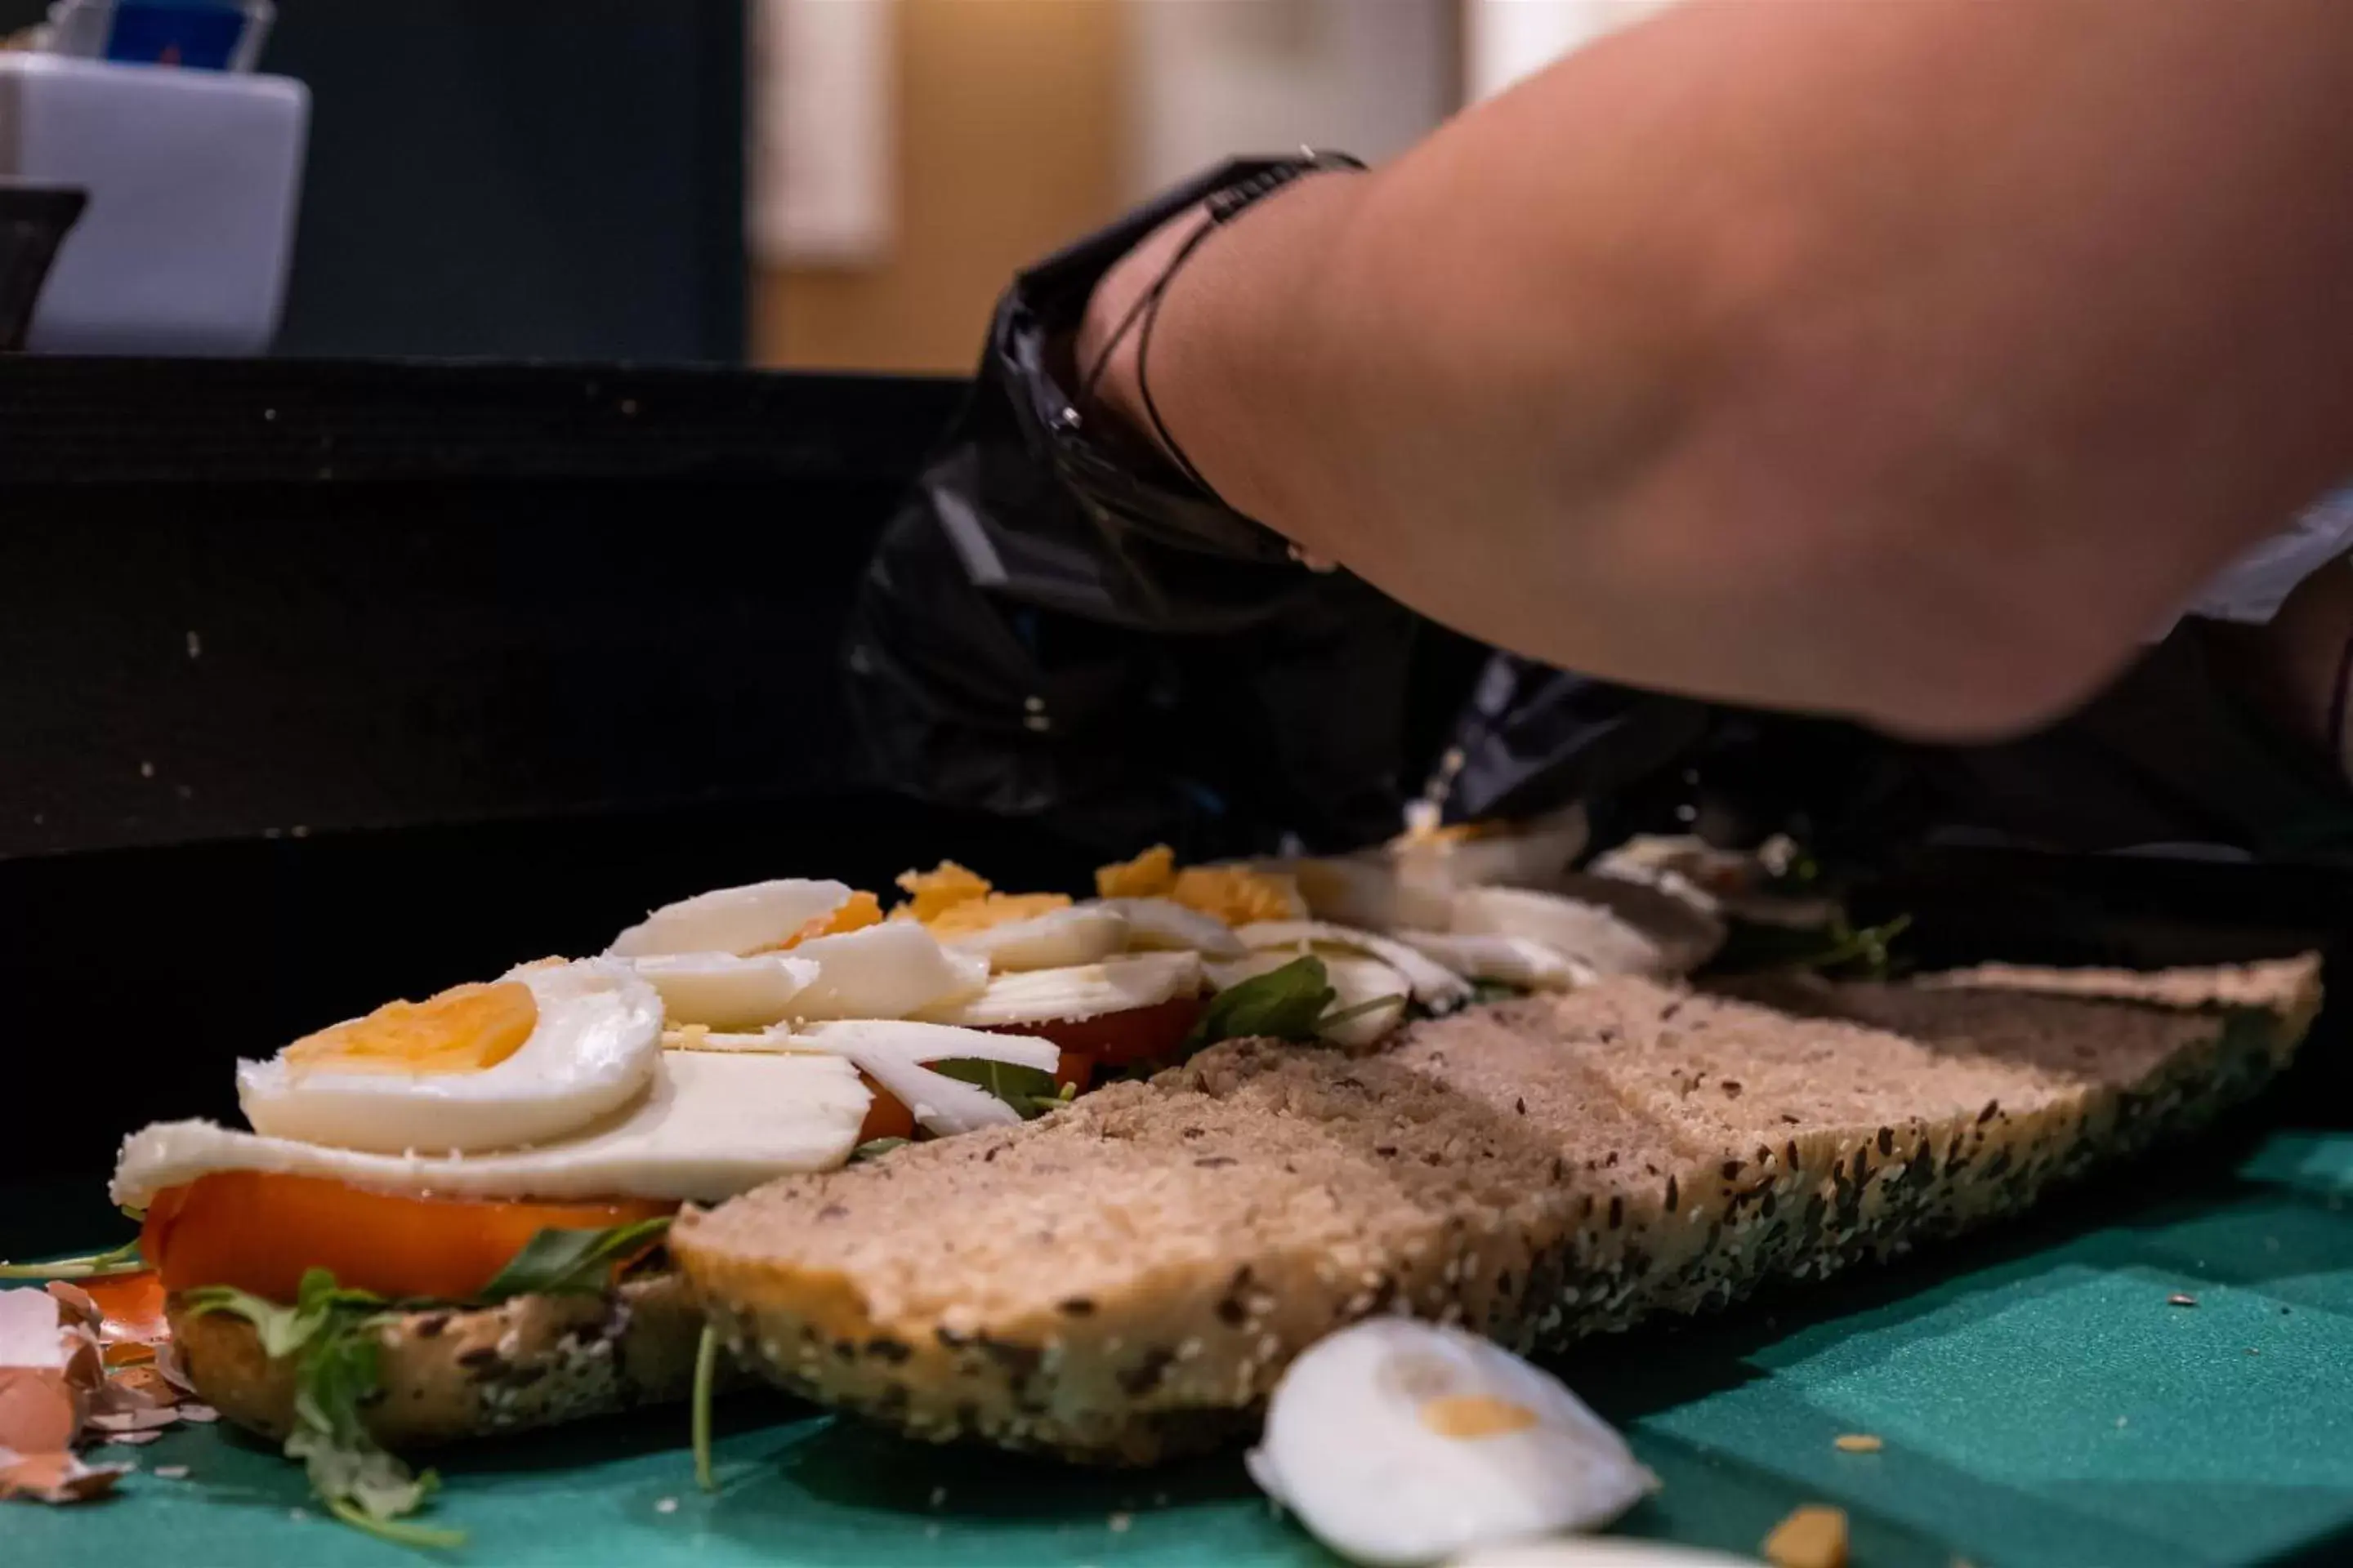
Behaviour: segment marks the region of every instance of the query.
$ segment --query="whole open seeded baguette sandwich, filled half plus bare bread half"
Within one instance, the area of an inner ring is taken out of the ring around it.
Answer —
[[[115,1199],[198,1394],[431,1544],[398,1453],[713,1380],[1141,1465],[1360,1319],[1527,1349],[1720,1307],[2193,1126],[2318,997],[2308,961],[1692,990],[1732,924],[1697,884],[1442,844],[701,893],[242,1063],[249,1131],[134,1133]]]

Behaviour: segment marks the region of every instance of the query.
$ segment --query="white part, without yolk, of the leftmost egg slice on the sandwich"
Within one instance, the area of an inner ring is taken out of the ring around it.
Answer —
[[[661,1056],[661,997],[628,964],[579,959],[506,976],[539,1023],[504,1063],[473,1072],[336,1072],[273,1056],[238,1063],[256,1133],[336,1150],[511,1150],[628,1105]]]

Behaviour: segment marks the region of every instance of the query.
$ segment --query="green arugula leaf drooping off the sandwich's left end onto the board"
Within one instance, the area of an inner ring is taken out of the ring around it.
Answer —
[[[294,1429],[285,1455],[301,1460],[327,1512],[402,1547],[464,1544],[459,1530],[400,1523],[426,1505],[440,1476],[409,1474],[360,1420],[360,1408],[381,1387],[381,1331],[398,1316],[398,1302],[346,1291],[327,1269],[304,1272],[292,1307],[231,1286],[202,1286],[181,1300],[191,1316],[242,1316],[273,1361],[294,1356]]]

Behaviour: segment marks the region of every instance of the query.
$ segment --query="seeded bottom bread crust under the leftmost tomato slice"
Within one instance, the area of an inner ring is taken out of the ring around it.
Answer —
[[[245,1319],[188,1316],[172,1342],[198,1396],[273,1439],[294,1420],[294,1363],[271,1361]],[[520,1295],[499,1307],[409,1312],[384,1328],[384,1399],[367,1429],[386,1448],[553,1427],[685,1399],[704,1314],[678,1274],[609,1295]]]

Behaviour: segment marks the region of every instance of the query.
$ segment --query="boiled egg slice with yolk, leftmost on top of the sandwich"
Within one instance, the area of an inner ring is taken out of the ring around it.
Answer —
[[[238,1103],[268,1138],[376,1154],[508,1150],[621,1110],[659,1056],[661,997],[628,964],[529,964],[238,1063]]]

